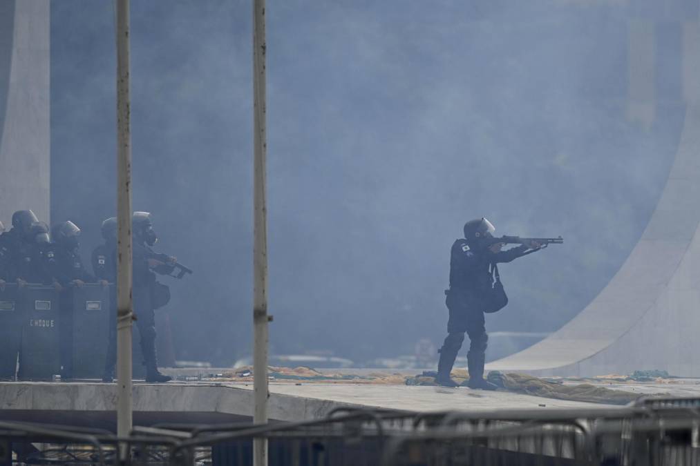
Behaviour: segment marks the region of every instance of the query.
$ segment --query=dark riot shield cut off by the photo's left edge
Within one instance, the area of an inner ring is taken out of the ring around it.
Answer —
[[[17,285],[8,284],[0,290],[0,379],[14,379],[17,369],[22,336],[17,289]]]

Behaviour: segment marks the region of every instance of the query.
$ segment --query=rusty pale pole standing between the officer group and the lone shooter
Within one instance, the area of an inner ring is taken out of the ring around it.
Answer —
[[[253,422],[267,422],[267,200],[265,197],[265,0],[253,0]],[[253,440],[253,466],[267,465],[267,439]]]

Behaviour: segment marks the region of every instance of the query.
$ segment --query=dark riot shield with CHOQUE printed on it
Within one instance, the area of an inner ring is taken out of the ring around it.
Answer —
[[[22,316],[19,378],[51,380],[61,370],[58,292],[43,285],[26,285],[18,292]]]

